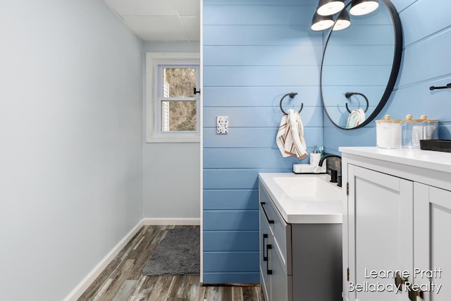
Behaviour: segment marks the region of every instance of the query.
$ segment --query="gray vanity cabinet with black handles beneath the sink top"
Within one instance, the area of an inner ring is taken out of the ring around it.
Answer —
[[[342,225],[286,223],[259,183],[260,285],[266,301],[338,301]]]

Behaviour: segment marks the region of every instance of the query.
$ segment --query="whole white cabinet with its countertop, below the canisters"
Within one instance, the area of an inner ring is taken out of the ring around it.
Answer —
[[[340,151],[343,299],[450,300],[451,154]]]

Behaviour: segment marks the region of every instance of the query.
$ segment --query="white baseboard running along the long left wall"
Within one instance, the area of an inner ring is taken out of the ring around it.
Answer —
[[[90,271],[89,274],[87,274],[87,276],[80,283],[78,283],[77,286],[75,286],[75,288],[69,293],[69,295],[67,295],[63,299],[63,301],[78,300],[78,298],[83,293],[85,293],[85,290],[89,288],[89,285],[91,285],[101,274],[101,272],[104,271],[106,266],[109,265],[109,263],[116,257],[117,254],[119,254],[119,252],[121,252],[123,247],[125,247],[125,245],[127,245],[128,242],[132,240],[133,236],[135,236],[135,234],[140,231],[140,228],[144,225],[143,221],[144,220],[141,220],[139,223],[137,223],[135,228],[132,228],[132,230],[127,233],[124,238],[120,242],[118,242],[118,244],[114,246],[113,249],[108,254],[106,254],[103,259],[101,259],[97,266],[94,266],[94,269],[92,269],[92,271]]]

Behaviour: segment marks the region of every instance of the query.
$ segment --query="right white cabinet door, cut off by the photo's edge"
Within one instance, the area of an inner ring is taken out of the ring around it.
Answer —
[[[451,300],[451,192],[414,185],[414,279],[424,299]]]

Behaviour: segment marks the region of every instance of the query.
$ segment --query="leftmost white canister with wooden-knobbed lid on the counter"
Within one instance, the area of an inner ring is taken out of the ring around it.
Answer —
[[[401,148],[401,121],[393,120],[390,115],[376,120],[376,145],[385,149]]]

